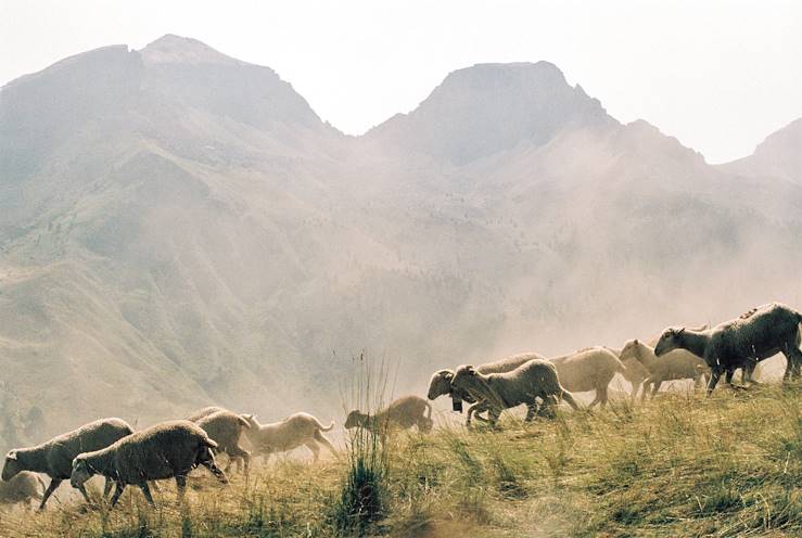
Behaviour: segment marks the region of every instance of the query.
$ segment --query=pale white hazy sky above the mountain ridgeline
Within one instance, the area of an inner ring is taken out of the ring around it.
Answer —
[[[538,60],[712,163],[802,117],[799,0],[0,0],[0,84],[164,34],[269,65],[349,133],[410,111],[456,68]]]

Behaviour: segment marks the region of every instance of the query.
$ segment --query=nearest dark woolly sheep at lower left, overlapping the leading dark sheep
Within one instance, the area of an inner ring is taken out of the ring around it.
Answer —
[[[92,475],[101,474],[116,484],[112,507],[127,485],[139,486],[148,502],[154,505],[148,481],[175,478],[181,500],[187,475],[198,465],[207,467],[222,484],[228,483],[215,463],[213,448],[217,444],[196,424],[184,420],[163,422],[101,450],[78,454],[73,461],[69,483],[81,489]]]

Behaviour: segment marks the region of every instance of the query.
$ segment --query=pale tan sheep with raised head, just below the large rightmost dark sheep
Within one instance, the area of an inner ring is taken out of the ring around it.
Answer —
[[[685,349],[674,349],[658,360],[654,349],[637,338],[624,345],[621,358],[622,360],[637,361],[646,367],[650,373],[644,381],[641,401],[646,400],[649,386],[651,386],[651,397],[653,398],[658,394],[660,385],[666,381],[693,380],[693,385],[699,387],[703,376],[710,376],[708,364],[692,353]]]

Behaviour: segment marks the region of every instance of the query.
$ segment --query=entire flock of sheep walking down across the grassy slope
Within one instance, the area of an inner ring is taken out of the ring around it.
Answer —
[[[787,358],[784,379],[800,377],[800,312],[777,303],[765,305],[712,329],[666,329],[659,338],[644,343],[629,341],[622,349],[591,347],[549,360],[537,354],[521,354],[497,362],[456,370],[440,370],[430,382],[428,397],[450,396],[455,411],[470,404],[467,423],[472,418],[496,423],[501,411],[520,405],[527,407],[526,420],[550,418],[560,401],[578,409],[574,392],[595,392],[590,406],[604,406],[608,386],[616,373],[633,385],[633,399],[642,385],[641,398],[649,388],[654,395],[663,382],[693,380],[697,386],[708,377],[708,394],[722,374],[733,384],[736,370],[743,380],[761,360],[782,353]],[[481,413],[487,413],[483,418]],[[348,413],[345,427],[364,427],[382,438],[395,430],[416,426],[420,432],[433,427],[432,406],[418,396],[393,401],[384,410],[368,414]],[[296,413],[280,422],[259,424],[252,414],[237,414],[219,407],[204,408],[186,420],[156,424],[140,432],[120,419],[102,419],[62,434],[30,448],[17,448],[5,456],[0,483],[0,502],[40,499],[43,509],[59,485],[69,479],[89,501],[87,481],[105,477],[105,497],[112,486],[114,505],[126,486],[138,486],[153,504],[149,483],[174,478],[182,498],[190,471],[205,466],[221,483],[226,472],[217,466],[215,454],[225,452],[228,466],[247,473],[252,452],[241,446],[244,437],[257,456],[306,446],[317,460],[322,445],[334,447],[323,435],[324,426],[315,417]],[[44,489],[39,474],[50,477]]]

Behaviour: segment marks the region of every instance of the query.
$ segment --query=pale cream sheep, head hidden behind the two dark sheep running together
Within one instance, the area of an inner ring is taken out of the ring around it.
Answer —
[[[590,407],[607,405],[607,388],[616,373],[626,373],[626,368],[610,349],[588,347],[571,355],[548,359],[557,367],[562,386],[571,393],[595,390]]]

